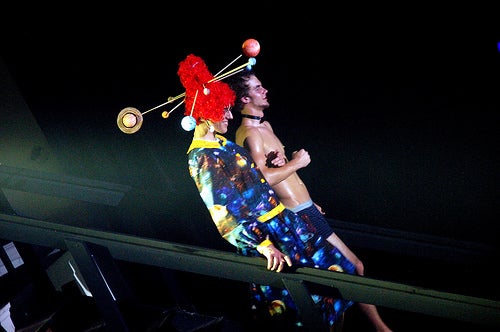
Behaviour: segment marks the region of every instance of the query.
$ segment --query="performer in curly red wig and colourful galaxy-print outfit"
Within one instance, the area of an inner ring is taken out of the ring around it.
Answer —
[[[354,274],[354,265],[311,223],[284,207],[247,150],[221,136],[233,118],[235,94],[229,86],[193,54],[179,64],[178,75],[186,89],[183,126],[194,125],[189,174],[221,236],[242,255],[265,256],[269,270],[281,272],[288,265]],[[253,285],[252,290],[271,315],[296,310],[286,289]],[[330,327],[353,304],[319,295],[313,300]]]

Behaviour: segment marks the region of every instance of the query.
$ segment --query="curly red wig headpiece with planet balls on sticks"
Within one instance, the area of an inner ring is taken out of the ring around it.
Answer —
[[[251,69],[256,63],[254,57],[260,52],[260,44],[255,39],[247,39],[242,45],[242,50],[243,54],[249,57],[248,61],[237,68],[221,73],[238,60],[242,56],[240,54],[230,64],[224,67],[224,69],[217,73],[216,76],[210,73],[205,62],[200,57],[193,54],[188,55],[179,63],[179,69],[177,71],[186,91],[175,97],[168,97],[167,102],[155,106],[143,113],[139,112],[139,110],[134,107],[122,109],[116,119],[118,128],[126,134],[135,133],[141,128],[144,114],[183,97],[184,98],[170,111],[162,112],[162,117],[165,119],[168,118],[172,111],[181,104],[186,103],[184,112],[186,116],[181,121],[184,130],[193,130],[200,119],[220,121],[224,116],[224,107],[233,106],[235,99],[234,92],[229,88],[229,85],[220,81],[242,71],[245,67]]]

